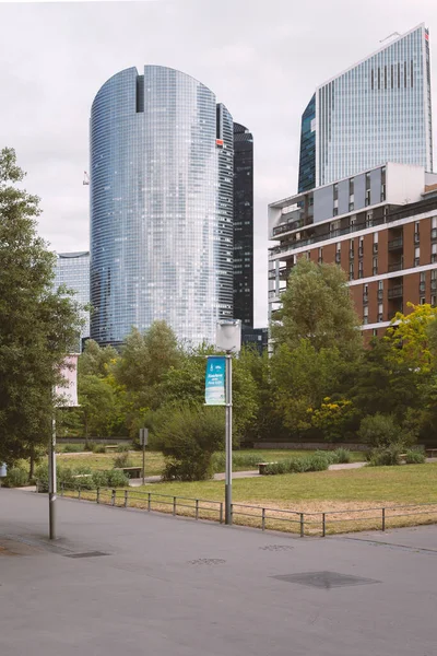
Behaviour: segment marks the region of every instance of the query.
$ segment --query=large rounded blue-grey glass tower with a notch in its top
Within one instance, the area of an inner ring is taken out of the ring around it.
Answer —
[[[233,119],[193,78],[145,66],[91,112],[91,336],[165,320],[191,344],[233,316]]]

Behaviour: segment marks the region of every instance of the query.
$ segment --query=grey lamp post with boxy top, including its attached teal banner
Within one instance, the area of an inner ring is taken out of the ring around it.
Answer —
[[[205,399],[206,405],[226,407],[225,523],[232,524],[232,354],[239,353],[241,350],[241,321],[239,319],[217,321],[215,345],[225,351],[226,355],[224,359],[215,355],[208,359]],[[222,380],[225,395],[223,395]]]

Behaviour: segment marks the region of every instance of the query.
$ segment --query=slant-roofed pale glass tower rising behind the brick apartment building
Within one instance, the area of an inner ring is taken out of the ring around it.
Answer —
[[[433,171],[429,35],[424,24],[316,90],[303,115],[299,191],[382,165]],[[315,172],[315,181],[311,179]]]

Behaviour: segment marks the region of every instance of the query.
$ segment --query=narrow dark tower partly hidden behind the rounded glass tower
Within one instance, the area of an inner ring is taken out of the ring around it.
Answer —
[[[234,317],[253,326],[253,137],[234,124]]]

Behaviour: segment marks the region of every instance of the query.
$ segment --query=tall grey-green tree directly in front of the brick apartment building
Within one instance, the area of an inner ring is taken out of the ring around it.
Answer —
[[[300,258],[281,300],[272,326],[276,343],[294,349],[306,339],[316,351],[336,348],[347,359],[357,356],[363,344],[359,319],[340,267]]]

